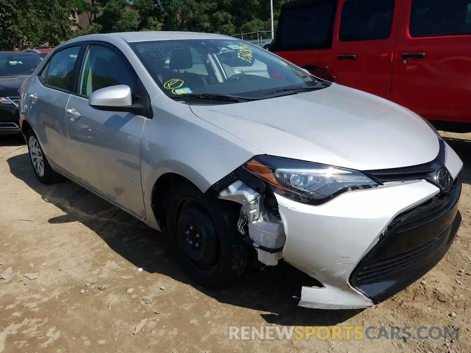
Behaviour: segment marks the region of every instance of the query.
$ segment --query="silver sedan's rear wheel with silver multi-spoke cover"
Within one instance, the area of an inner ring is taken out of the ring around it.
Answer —
[[[51,185],[65,180],[65,177],[52,169],[44,154],[38,137],[30,129],[26,134],[26,144],[30,162],[37,178],[42,184]]]

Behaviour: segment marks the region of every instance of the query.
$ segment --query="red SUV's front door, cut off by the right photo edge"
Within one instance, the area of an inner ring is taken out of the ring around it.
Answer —
[[[448,110],[437,109],[436,119],[471,109],[471,0],[408,0],[403,14],[394,77],[399,103],[419,113]]]

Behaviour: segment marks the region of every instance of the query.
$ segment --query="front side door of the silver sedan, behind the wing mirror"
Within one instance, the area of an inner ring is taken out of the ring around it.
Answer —
[[[117,48],[90,42],[85,50],[74,94],[66,107],[73,177],[144,218],[140,137],[146,118],[130,112],[97,110],[88,104],[88,97],[100,88],[127,85],[135,95],[143,87]]]

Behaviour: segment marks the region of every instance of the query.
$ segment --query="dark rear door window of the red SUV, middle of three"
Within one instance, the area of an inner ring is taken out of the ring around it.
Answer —
[[[396,0],[348,0],[343,4],[339,40],[382,40],[391,35]]]

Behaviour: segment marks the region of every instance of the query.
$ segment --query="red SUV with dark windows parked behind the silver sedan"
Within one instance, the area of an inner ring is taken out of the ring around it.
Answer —
[[[270,51],[317,77],[471,131],[471,0],[296,0]],[[456,124],[457,123],[457,124]]]

